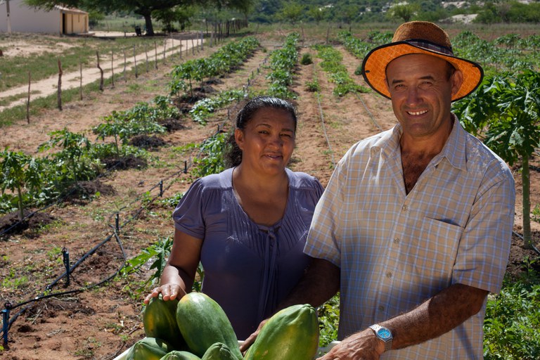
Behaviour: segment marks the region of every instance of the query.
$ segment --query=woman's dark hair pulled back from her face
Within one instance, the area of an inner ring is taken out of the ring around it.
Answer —
[[[231,130],[229,134],[229,139],[227,139],[224,153],[225,167],[235,167],[240,165],[242,162],[242,150],[238,148],[236,141],[234,139],[234,129],[245,129],[246,125],[253,119],[255,113],[261,109],[265,108],[274,108],[286,110],[290,114],[290,117],[293,118],[295,122],[295,131],[296,131],[296,109],[293,104],[285,101],[281,98],[274,98],[273,96],[257,96],[252,98],[248,103],[245,103],[243,107],[238,111],[236,115],[235,128]]]

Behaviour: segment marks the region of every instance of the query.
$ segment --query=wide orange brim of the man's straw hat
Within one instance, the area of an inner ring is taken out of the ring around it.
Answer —
[[[364,76],[364,79],[373,90],[385,96],[385,98],[391,98],[386,84],[386,67],[388,63],[400,56],[418,53],[437,56],[437,58],[442,58],[454,65],[454,68],[461,70],[463,73],[463,84],[461,84],[459,91],[452,96],[452,101],[458,101],[475,91],[484,78],[484,70],[474,61],[457,58],[456,56],[450,56],[437,51],[430,51],[419,46],[414,46],[407,41],[392,42],[371,50],[362,62],[362,76]]]

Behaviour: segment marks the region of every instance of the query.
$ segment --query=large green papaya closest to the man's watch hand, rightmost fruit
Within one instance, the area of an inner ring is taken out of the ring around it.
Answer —
[[[311,360],[318,347],[317,312],[310,304],[298,304],[266,321],[244,360]]]

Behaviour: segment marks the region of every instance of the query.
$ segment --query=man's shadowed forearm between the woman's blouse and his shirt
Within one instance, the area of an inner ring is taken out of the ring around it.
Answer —
[[[324,259],[311,259],[304,276],[290,295],[278,305],[285,309],[294,304],[321,306],[340,289],[340,268]]]

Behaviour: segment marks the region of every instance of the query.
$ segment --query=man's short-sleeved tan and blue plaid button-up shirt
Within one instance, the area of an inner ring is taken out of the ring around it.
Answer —
[[[304,252],[341,268],[340,339],[455,283],[501,290],[514,180],[506,163],[454,119],[443,150],[409,194],[399,124],[356,143],[336,167]],[[449,333],[382,359],[482,359],[485,305]]]

